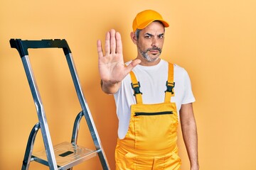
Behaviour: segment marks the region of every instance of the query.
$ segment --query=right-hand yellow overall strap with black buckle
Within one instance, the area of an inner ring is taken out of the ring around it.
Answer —
[[[166,81],[166,91],[164,102],[170,102],[171,97],[174,96],[174,64],[169,63],[168,80]]]

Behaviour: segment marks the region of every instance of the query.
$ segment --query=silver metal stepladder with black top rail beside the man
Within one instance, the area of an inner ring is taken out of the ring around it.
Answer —
[[[68,47],[68,42],[64,39],[11,39],[10,44],[12,48],[16,48],[16,50],[18,50],[18,53],[21,56],[23,67],[26,72],[26,77],[28,79],[28,84],[31,88],[31,93],[34,103],[36,105],[36,111],[38,115],[38,123],[34,125],[28,137],[28,143],[26,146],[26,152],[24,155],[21,169],[28,170],[30,162],[33,161],[49,166],[50,170],[72,169],[73,166],[85,162],[85,160],[95,157],[97,155],[100,158],[102,169],[110,169],[109,164],[107,163],[105,152],[100,142],[100,137],[95,127],[95,123],[93,122],[89,107],[87,106],[87,102],[85,101],[85,97],[82,94],[80,81],[78,79],[78,74],[75,69],[71,50]],[[75,118],[71,142],[63,142],[55,146],[53,146],[52,144],[48,123],[46,120],[46,113],[43,108],[41,96],[36,85],[36,79],[33,76],[31,63],[29,61],[28,48],[62,48],[64,51],[66,60],[68,62],[68,67],[70,69],[70,74],[75,85],[75,91],[78,95],[80,106],[82,107],[82,111],[80,111],[80,113],[78,113],[77,117]],[[85,117],[85,120],[87,122],[90,134],[92,135],[92,140],[96,148],[95,150],[86,149],[85,147],[77,145],[79,124],[83,116]],[[41,152],[33,154],[33,145],[39,129],[41,129],[45,149]]]

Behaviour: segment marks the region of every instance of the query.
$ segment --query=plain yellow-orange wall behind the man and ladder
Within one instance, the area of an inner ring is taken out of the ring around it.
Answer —
[[[68,40],[81,85],[112,169],[117,137],[114,100],[100,90],[96,40],[122,34],[125,61],[137,12],[152,8],[169,21],[162,57],[185,67],[196,96],[201,169],[256,169],[256,1],[0,1],[0,169],[21,169],[36,109],[10,38]],[[30,50],[53,143],[70,141],[80,111],[61,50]],[[56,55],[54,57],[51,57]],[[61,115],[61,117],[60,117]],[[93,148],[82,121],[78,143]],[[43,149],[40,132],[35,151]],[[182,169],[188,158],[180,135]],[[39,168],[40,167],[40,168]],[[75,169],[100,169],[97,157]],[[31,169],[45,169],[32,163]]]

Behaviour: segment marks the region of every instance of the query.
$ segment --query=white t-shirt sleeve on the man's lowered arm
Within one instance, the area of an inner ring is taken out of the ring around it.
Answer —
[[[188,76],[188,72],[184,69],[183,72],[184,77],[184,87],[185,87],[185,94],[183,96],[183,100],[181,104],[193,103],[196,101],[195,97],[193,96],[192,88],[191,88],[191,80]]]

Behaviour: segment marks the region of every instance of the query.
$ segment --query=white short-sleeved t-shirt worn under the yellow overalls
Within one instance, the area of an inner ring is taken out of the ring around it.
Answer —
[[[130,62],[127,62],[127,64]],[[137,65],[132,69],[141,86],[142,103],[153,104],[164,102],[164,91],[166,91],[166,81],[168,79],[168,64],[165,60],[161,60],[155,66],[147,67]],[[171,102],[176,103],[177,112],[179,113],[181,104],[192,103],[195,101],[195,98],[191,90],[191,81],[188,73],[176,64],[174,64],[174,82],[175,96],[171,97]],[[114,94],[117,117],[119,119],[119,139],[123,139],[127,134],[131,115],[130,106],[136,103],[131,83],[132,80],[128,74],[122,81],[120,89]]]

